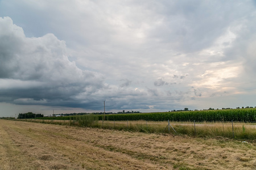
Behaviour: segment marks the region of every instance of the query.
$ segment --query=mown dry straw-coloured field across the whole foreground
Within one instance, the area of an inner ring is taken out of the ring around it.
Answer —
[[[256,169],[256,143],[0,120],[0,169]]]

